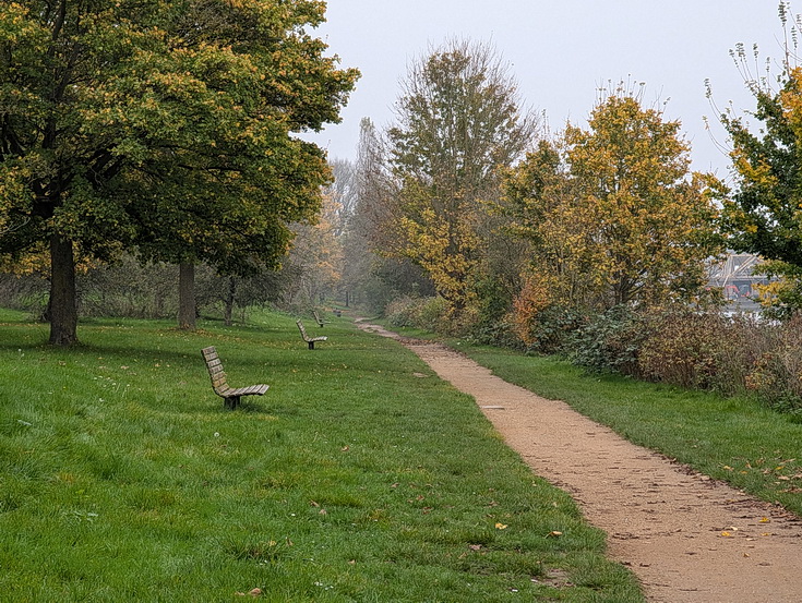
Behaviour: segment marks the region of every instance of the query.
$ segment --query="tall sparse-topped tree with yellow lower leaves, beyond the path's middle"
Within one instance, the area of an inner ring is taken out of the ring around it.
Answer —
[[[499,168],[522,158],[537,129],[492,46],[452,40],[414,62],[388,131],[397,186],[396,250],[421,266],[458,316],[475,294],[481,202]]]

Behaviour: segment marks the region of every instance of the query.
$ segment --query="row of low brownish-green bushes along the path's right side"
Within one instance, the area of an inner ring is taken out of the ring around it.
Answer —
[[[386,317],[398,327],[455,334],[447,304],[439,298],[396,300]],[[532,312],[525,328],[510,314],[493,325],[462,325],[458,335],[562,355],[594,373],[751,395],[776,410],[802,414],[802,315],[778,322],[681,305],[617,306],[589,315],[550,305]]]

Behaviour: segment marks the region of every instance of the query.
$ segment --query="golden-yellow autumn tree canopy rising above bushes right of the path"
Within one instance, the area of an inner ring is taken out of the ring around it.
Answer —
[[[541,304],[603,311],[689,299],[717,251],[709,176],[692,174],[680,124],[618,91],[510,173],[513,230],[532,248]]]

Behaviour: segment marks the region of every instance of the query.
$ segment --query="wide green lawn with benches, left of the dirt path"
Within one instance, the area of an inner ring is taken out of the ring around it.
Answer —
[[[0,600],[643,601],[469,397],[345,318],[307,323],[313,351],[271,313],[92,321],[59,350],[0,311]],[[226,411],[208,345],[267,394]]]

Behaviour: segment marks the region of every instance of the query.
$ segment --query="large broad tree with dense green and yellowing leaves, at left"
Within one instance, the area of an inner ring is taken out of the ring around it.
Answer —
[[[314,0],[20,0],[0,8],[0,253],[49,249],[50,341],[76,341],[75,254],[285,253],[319,208],[357,73],[308,28]]]

